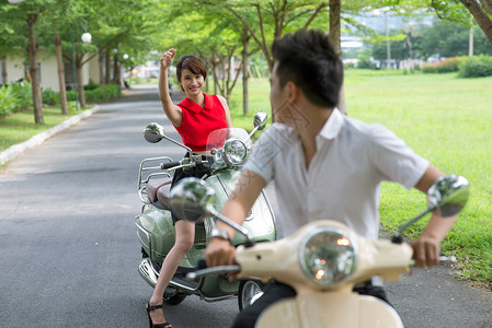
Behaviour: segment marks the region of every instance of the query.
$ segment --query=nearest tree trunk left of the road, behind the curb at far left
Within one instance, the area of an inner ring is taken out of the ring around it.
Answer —
[[[28,46],[27,52],[30,55],[30,72],[31,72],[31,87],[33,90],[33,107],[34,107],[34,121],[36,124],[44,124],[43,117],[43,97],[41,95],[39,84],[39,69],[37,67],[37,43],[34,33],[34,24],[36,23],[37,14],[27,15],[27,30],[28,30]]]

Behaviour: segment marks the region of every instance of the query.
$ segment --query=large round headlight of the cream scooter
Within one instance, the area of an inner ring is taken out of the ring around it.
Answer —
[[[300,267],[316,284],[336,286],[345,282],[357,266],[358,247],[347,231],[320,226],[300,244]]]

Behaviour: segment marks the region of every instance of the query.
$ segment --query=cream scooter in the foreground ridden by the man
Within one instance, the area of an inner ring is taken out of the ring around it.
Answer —
[[[190,190],[208,195],[202,198],[202,211],[196,208],[198,197]],[[215,210],[214,190],[203,181],[183,179],[174,191],[171,207],[183,209],[193,204],[195,220],[202,220],[204,213],[214,215],[249,239],[248,232]],[[336,221],[314,221],[287,238],[239,246],[237,266],[204,269],[190,273],[188,278],[238,272],[238,279],[275,279],[293,286],[297,296],[267,307],[256,323],[259,328],[403,327],[393,307],[379,298],[357,294],[353,288],[374,276],[387,281],[401,280],[412,266],[412,248],[403,243],[401,233],[431,211],[439,210],[445,218],[457,214],[468,197],[468,181],[448,175],[428,189],[427,209],[401,226],[391,241],[367,239]]]

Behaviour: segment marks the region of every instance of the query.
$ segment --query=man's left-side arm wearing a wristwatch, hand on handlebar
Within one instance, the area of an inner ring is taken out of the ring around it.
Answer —
[[[231,221],[242,224],[254,201],[265,187],[265,180],[256,173],[243,171],[236,186],[236,190],[224,204],[221,213]],[[232,241],[236,230],[217,220],[216,227],[227,232]],[[205,249],[205,260],[208,267],[233,265],[236,248],[229,241],[213,238]]]

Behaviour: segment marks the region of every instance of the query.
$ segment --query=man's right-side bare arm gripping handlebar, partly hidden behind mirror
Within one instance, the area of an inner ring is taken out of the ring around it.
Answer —
[[[444,173],[433,165],[430,165],[422,178],[415,185],[415,188],[426,194],[432,184],[442,176],[444,176]],[[432,218],[422,232],[419,241],[410,244],[413,248],[415,267],[431,267],[438,265],[440,241],[443,241],[449,232],[457,218],[458,215],[443,218],[438,211],[432,213]]]

